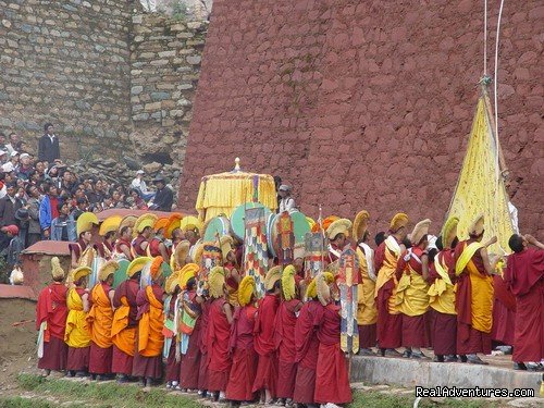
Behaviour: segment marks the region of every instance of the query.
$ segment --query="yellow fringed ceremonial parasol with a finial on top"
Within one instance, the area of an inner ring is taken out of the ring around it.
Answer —
[[[235,163],[231,172],[202,177],[195,205],[201,221],[220,214],[230,218],[236,207],[246,201],[261,202],[272,211],[277,208],[274,178],[269,174],[243,172],[238,158]]]

